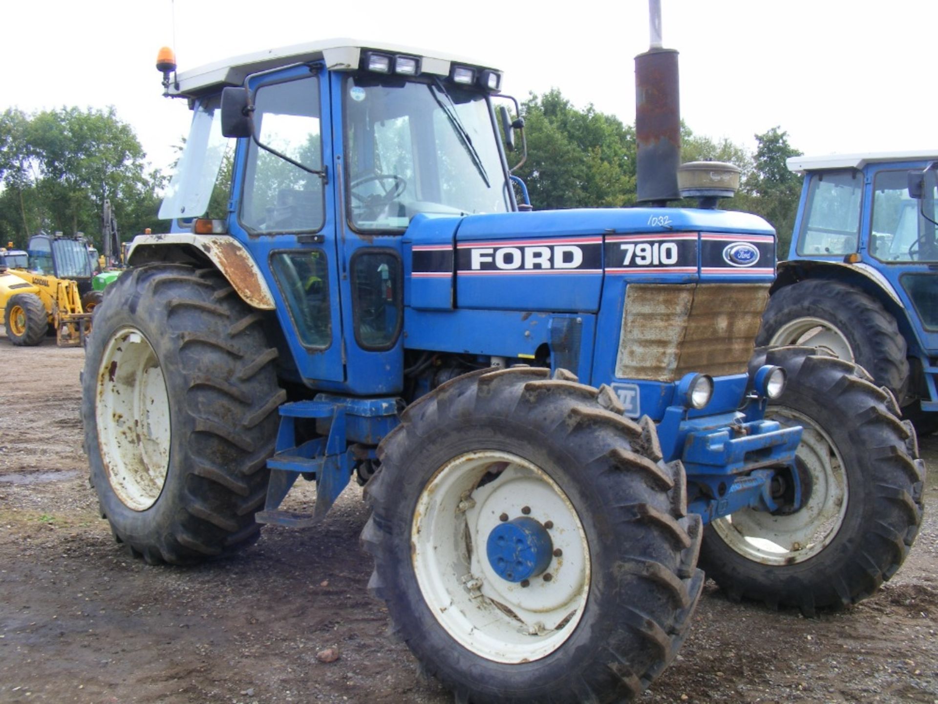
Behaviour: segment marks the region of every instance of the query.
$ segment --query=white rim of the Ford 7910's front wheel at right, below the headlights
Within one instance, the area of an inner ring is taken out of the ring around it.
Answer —
[[[814,421],[791,408],[768,417],[773,415],[804,428],[797,457],[799,469],[809,473],[807,503],[789,515],[743,509],[711,525],[740,555],[766,565],[791,565],[813,558],[837,536],[847,513],[847,478],[840,452]]]

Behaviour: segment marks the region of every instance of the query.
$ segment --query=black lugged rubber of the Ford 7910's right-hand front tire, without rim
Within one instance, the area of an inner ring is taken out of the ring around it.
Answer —
[[[896,574],[921,525],[925,465],[917,457],[915,430],[910,422],[900,421],[890,412],[888,391],[870,383],[862,370],[849,362],[816,355],[809,347],[756,352],[754,364],[785,367],[789,390],[797,390],[801,397],[813,394],[819,405],[823,400],[829,413],[825,418],[828,425],[821,427],[828,435],[842,433],[842,443],[858,448],[856,456],[863,458],[864,467],[848,488],[851,492],[865,489],[865,513],[855,528],[846,528],[851,520],[848,513],[840,527],[840,531],[847,531],[843,539],[839,533],[825,550],[802,563],[803,569],[763,566],[765,575],[751,578],[748,572],[740,572],[732,548],[722,543],[715,531],[708,531],[704,538],[701,564],[734,601],[747,598],[771,607],[796,606],[806,616],[813,616],[819,608],[855,604]],[[781,406],[786,398],[783,395],[780,399]],[[846,427],[836,427],[839,423]],[[845,448],[839,449],[849,462]],[[854,534],[849,534],[850,530]]]

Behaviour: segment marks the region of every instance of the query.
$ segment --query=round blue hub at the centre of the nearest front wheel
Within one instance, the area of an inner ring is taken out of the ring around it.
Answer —
[[[509,582],[521,582],[547,569],[553,543],[547,528],[534,518],[519,516],[492,528],[486,554],[495,574]]]

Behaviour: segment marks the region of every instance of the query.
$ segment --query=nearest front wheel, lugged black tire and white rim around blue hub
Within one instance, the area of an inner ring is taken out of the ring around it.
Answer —
[[[703,585],[700,519],[654,424],[549,375],[447,382],[404,412],[366,486],[371,590],[461,700],[636,696],[673,659]],[[499,562],[509,524],[550,537],[544,572]]]

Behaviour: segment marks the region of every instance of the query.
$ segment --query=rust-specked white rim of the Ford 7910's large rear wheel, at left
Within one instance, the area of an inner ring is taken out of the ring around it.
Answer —
[[[114,494],[133,511],[157,502],[170,464],[170,402],[157,355],[135,328],[118,330],[98,369],[98,448]]]

